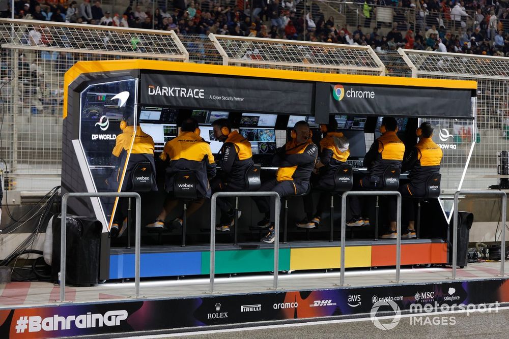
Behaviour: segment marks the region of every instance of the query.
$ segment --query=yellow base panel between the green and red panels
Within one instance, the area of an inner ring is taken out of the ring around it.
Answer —
[[[370,267],[371,246],[348,246],[345,267]],[[321,247],[290,250],[290,269],[339,268],[340,247]]]

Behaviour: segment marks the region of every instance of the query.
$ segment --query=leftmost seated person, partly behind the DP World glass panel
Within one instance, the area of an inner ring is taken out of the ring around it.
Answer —
[[[115,147],[111,152],[111,163],[117,164],[117,171],[107,180],[108,186],[112,189],[118,189],[122,178],[122,172],[125,168],[124,180],[122,182],[122,192],[132,190],[131,176],[136,165],[140,162],[150,162],[152,173],[156,172],[154,164],[154,140],[150,135],[142,131],[139,124],[136,124],[136,133],[132,144],[129,161],[126,166],[129,147],[131,146],[134,133],[134,116],[124,116],[120,122],[122,133],[117,136]],[[157,191],[157,184],[152,180],[152,191]],[[111,236],[120,237],[127,229],[127,204],[128,198],[119,198],[119,203],[115,211],[115,218],[111,224]]]

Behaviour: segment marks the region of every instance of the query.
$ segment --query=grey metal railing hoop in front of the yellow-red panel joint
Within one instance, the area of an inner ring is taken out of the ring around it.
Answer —
[[[396,277],[394,283],[400,282],[401,270],[401,194],[398,191],[348,191],[343,193],[341,201],[341,263],[340,285],[345,285],[345,249],[346,249],[346,212],[348,196],[396,196]]]

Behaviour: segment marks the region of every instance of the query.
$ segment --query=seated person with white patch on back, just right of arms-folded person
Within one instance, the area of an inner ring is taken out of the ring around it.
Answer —
[[[331,191],[334,188],[334,173],[344,164],[350,156],[348,139],[341,132],[337,132],[337,121],[333,115],[329,116],[327,125],[320,125],[322,140],[320,140],[319,161],[315,164],[315,173],[312,174],[313,188],[322,190],[318,200],[317,212],[313,215],[315,204],[313,195],[302,197],[306,218],[297,223],[300,228],[315,228],[320,226],[325,206],[329,205]]]

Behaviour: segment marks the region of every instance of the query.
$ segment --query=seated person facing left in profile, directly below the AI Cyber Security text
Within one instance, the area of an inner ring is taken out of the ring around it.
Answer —
[[[221,167],[221,176],[216,176],[210,183],[212,192],[238,192],[246,190],[246,171],[253,164],[251,143],[237,131],[232,131],[228,119],[217,119],[212,122],[214,136],[223,146],[217,156],[217,165]],[[230,231],[235,222],[234,209],[228,198],[218,198],[217,205],[221,210],[218,231]],[[240,213],[239,213],[240,214]],[[240,216],[240,215],[239,215]]]

